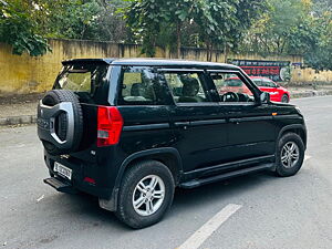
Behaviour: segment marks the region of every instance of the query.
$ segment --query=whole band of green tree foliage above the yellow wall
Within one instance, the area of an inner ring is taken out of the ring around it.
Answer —
[[[42,55],[48,38],[261,54],[332,70],[332,0],[0,0],[0,42]]]

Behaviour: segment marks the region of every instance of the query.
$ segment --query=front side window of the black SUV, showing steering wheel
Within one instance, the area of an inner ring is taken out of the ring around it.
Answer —
[[[242,79],[236,73],[210,73],[220,102],[253,102],[252,92],[248,89]]]

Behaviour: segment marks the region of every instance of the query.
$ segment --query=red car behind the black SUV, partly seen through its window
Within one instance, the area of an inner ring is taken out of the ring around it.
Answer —
[[[262,76],[249,76],[251,81],[262,92],[270,93],[271,101],[288,103],[290,101],[290,93],[287,89],[278,85],[268,77]],[[225,85],[220,89],[220,93],[236,92],[250,94],[249,89],[238,77],[229,77],[225,80]]]

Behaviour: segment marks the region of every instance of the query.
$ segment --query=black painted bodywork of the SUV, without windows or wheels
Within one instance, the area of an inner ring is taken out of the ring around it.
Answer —
[[[177,186],[189,187],[186,183],[190,180],[273,164],[278,139],[284,132],[298,133],[307,143],[301,113],[290,104],[262,103],[259,98],[261,92],[238,66],[207,62],[112,59],[72,60],[63,64],[76,62],[110,65],[107,81],[97,98],[81,101],[84,115],[81,151],[63,156],[52,156],[45,152],[45,162],[51,173],[55,160],[72,168],[73,187],[102,199],[111,199],[114,204],[126,167],[136,160],[162,160],[170,167]],[[204,71],[211,102],[176,104],[170,91],[164,86],[163,105],[118,105],[121,69],[127,65]],[[256,101],[248,104],[219,103],[209,70],[239,72]],[[97,147],[96,110],[105,103],[117,106],[124,127],[117,145]],[[86,176],[95,179],[95,185],[83,181]]]

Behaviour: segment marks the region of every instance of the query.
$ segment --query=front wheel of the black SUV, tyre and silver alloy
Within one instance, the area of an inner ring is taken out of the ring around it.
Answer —
[[[281,177],[295,175],[304,159],[304,144],[295,133],[284,134],[278,142],[276,174]]]

